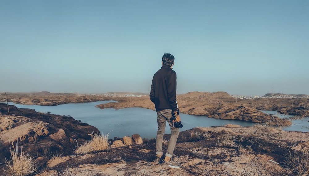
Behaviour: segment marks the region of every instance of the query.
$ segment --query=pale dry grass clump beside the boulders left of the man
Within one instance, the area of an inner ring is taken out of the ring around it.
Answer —
[[[85,144],[81,144],[78,146],[74,153],[76,154],[85,154],[93,151],[101,151],[107,150],[110,142],[108,142],[108,134],[107,135],[91,135],[91,140],[89,142],[85,142]]]

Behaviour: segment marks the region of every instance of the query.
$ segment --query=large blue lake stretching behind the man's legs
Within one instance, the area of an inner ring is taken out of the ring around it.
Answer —
[[[51,112],[58,115],[70,115],[76,120],[95,126],[103,134],[109,134],[109,138],[131,136],[139,134],[142,138],[155,138],[157,132],[157,114],[155,111],[146,108],[124,108],[124,109],[99,109],[96,105],[115,101],[100,101],[91,103],[70,103],[58,106],[22,105],[9,102],[19,108],[30,108],[37,112]],[[268,111],[267,113],[270,113]],[[181,123],[184,125],[180,131],[195,127],[222,126],[226,124],[238,124],[241,126],[252,126],[254,123],[232,120],[213,119],[206,116],[188,115],[180,113]],[[288,127],[289,128],[289,127]],[[289,129],[285,129],[289,130]],[[306,128],[297,130],[308,130]],[[165,134],[170,133],[167,125]]]

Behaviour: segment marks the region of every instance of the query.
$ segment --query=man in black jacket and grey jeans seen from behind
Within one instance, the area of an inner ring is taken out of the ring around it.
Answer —
[[[174,60],[174,56],[170,53],[165,53],[163,55],[162,67],[155,73],[152,79],[150,100],[155,103],[155,109],[158,115],[156,157],[154,162],[159,163],[163,156],[162,139],[167,121],[171,127],[171,137],[168,141],[167,152],[165,153],[165,158],[161,165],[171,168],[180,168],[180,165],[171,159],[179,135],[179,128],[173,127],[173,122],[170,120],[172,118],[172,113],[176,116],[175,122],[180,122],[176,102],[176,72],[172,70]]]

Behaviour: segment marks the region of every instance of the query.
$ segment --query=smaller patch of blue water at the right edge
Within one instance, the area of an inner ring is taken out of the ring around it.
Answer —
[[[285,114],[280,114],[277,111],[262,111],[266,114],[274,114],[278,116],[279,118],[290,118],[294,117],[295,115],[285,115]],[[309,132],[309,117],[305,117],[303,119],[295,119],[292,120],[292,125],[286,128],[282,128],[283,130],[286,131],[303,131],[303,132]]]

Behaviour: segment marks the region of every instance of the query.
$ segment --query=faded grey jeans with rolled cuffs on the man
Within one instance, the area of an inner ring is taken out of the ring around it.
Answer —
[[[165,153],[165,156],[167,156],[167,157],[173,156],[175,145],[176,145],[176,142],[177,142],[177,139],[178,139],[179,128],[175,128],[171,124],[171,120],[170,120],[171,117],[172,117],[171,112],[172,112],[171,109],[164,109],[162,111],[157,112],[157,115],[158,115],[158,118],[157,118],[158,132],[157,132],[157,139],[156,139],[156,154],[159,155],[159,156],[163,155],[162,139],[163,139],[163,135],[164,135],[164,132],[165,132],[166,121],[168,122],[168,124],[171,127],[171,137],[170,137],[170,140],[168,141],[167,151]]]

